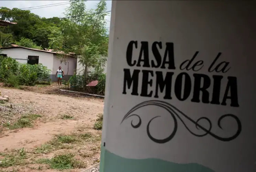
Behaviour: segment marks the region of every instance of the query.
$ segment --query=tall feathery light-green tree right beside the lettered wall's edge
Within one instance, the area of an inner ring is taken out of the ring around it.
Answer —
[[[108,35],[105,27],[106,1],[101,0],[96,10],[87,10],[84,1],[71,1],[66,10],[68,20],[61,22],[62,33],[50,38],[53,47],[65,53],[74,52],[83,65],[84,77],[88,68],[105,65]],[[77,17],[72,17],[77,16]]]

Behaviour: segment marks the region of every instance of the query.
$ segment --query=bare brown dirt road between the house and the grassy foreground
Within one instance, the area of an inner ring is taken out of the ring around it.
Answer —
[[[54,135],[68,134],[77,131],[79,127],[88,128],[91,132],[98,132],[97,130],[93,131],[92,128],[97,115],[103,113],[103,99],[73,98],[5,88],[0,88],[0,90],[2,95],[10,97],[9,104],[13,105],[13,109],[18,109],[18,115],[8,116],[7,120],[2,119],[2,124],[17,120],[23,110],[27,112],[27,109],[32,113],[42,115],[35,121],[33,128],[3,130],[0,137],[0,152],[23,147],[33,150],[50,141]],[[61,119],[64,115],[72,116],[73,119]],[[0,117],[3,118],[1,110]],[[99,153],[97,156],[99,157]]]

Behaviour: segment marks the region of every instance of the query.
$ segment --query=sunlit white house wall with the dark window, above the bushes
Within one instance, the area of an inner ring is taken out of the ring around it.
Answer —
[[[26,59],[29,55],[39,56],[39,63],[42,63],[48,69],[52,71],[53,69],[53,53],[46,53],[41,51],[29,50],[24,48],[14,48],[14,49],[2,49],[1,54],[7,54],[8,57],[21,58],[24,60],[17,60],[20,63],[27,63]],[[52,72],[51,72],[52,73]]]

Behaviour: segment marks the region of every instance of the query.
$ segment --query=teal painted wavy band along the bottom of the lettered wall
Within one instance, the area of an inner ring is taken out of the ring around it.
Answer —
[[[127,159],[102,146],[100,172],[214,172],[196,163],[178,164],[160,159]]]

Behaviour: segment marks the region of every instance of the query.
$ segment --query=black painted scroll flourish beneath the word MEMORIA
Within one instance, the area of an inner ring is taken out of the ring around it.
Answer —
[[[133,120],[131,121],[131,126],[133,128],[139,128],[141,126],[141,118],[139,115],[137,114],[132,114],[132,112],[134,112],[135,110],[139,109],[139,108],[142,108],[144,106],[158,106],[158,107],[161,107],[161,108],[164,108],[165,110],[167,110],[170,115],[172,116],[173,120],[174,120],[174,127],[173,127],[173,131],[172,133],[170,134],[170,136],[168,136],[167,138],[164,138],[164,139],[156,139],[154,138],[151,134],[150,134],[150,131],[149,131],[149,125],[150,123],[160,117],[160,116],[156,116],[156,117],[153,117],[152,119],[149,120],[148,124],[147,124],[147,135],[148,137],[156,142],[156,143],[166,143],[168,141],[170,141],[176,134],[177,132],[177,128],[178,128],[178,123],[177,123],[177,118],[183,123],[183,125],[185,126],[185,128],[194,136],[197,136],[197,137],[203,137],[203,136],[206,136],[206,135],[211,135],[212,137],[214,137],[215,139],[218,139],[218,140],[221,140],[221,141],[231,141],[235,138],[237,138],[241,131],[242,131],[242,124],[241,124],[241,121],[239,120],[239,118],[233,114],[225,114],[225,115],[222,115],[219,119],[218,119],[218,127],[220,127],[222,129],[222,126],[221,126],[221,121],[222,119],[224,118],[233,118],[235,119],[236,123],[237,123],[237,131],[236,133],[231,136],[231,137],[227,137],[227,138],[223,138],[223,137],[220,137],[220,136],[217,136],[215,135],[214,133],[211,132],[211,129],[212,129],[212,122],[210,121],[209,118],[206,118],[206,117],[201,117],[199,118],[198,120],[194,121],[193,119],[191,119],[189,116],[185,115],[182,111],[180,111],[178,108],[174,107],[173,105],[169,104],[169,103],[166,103],[165,101],[160,101],[160,100],[149,100],[149,101],[144,101],[138,105],[136,105],[135,107],[133,107],[131,110],[129,110],[127,112],[127,114],[124,116],[124,118],[122,119],[121,123],[126,120],[127,118],[130,118],[132,116],[136,116],[139,118],[139,122],[137,124],[134,124]],[[201,129],[204,131],[203,134],[196,134],[194,132],[192,132],[188,126],[186,126],[185,122],[182,120],[181,116],[185,117],[186,119],[188,119],[189,121],[191,121],[192,123],[195,124],[195,127],[197,129]],[[209,128],[204,128],[203,126],[201,126],[199,124],[199,121],[201,120],[205,120],[207,121],[207,123],[209,123]]]

